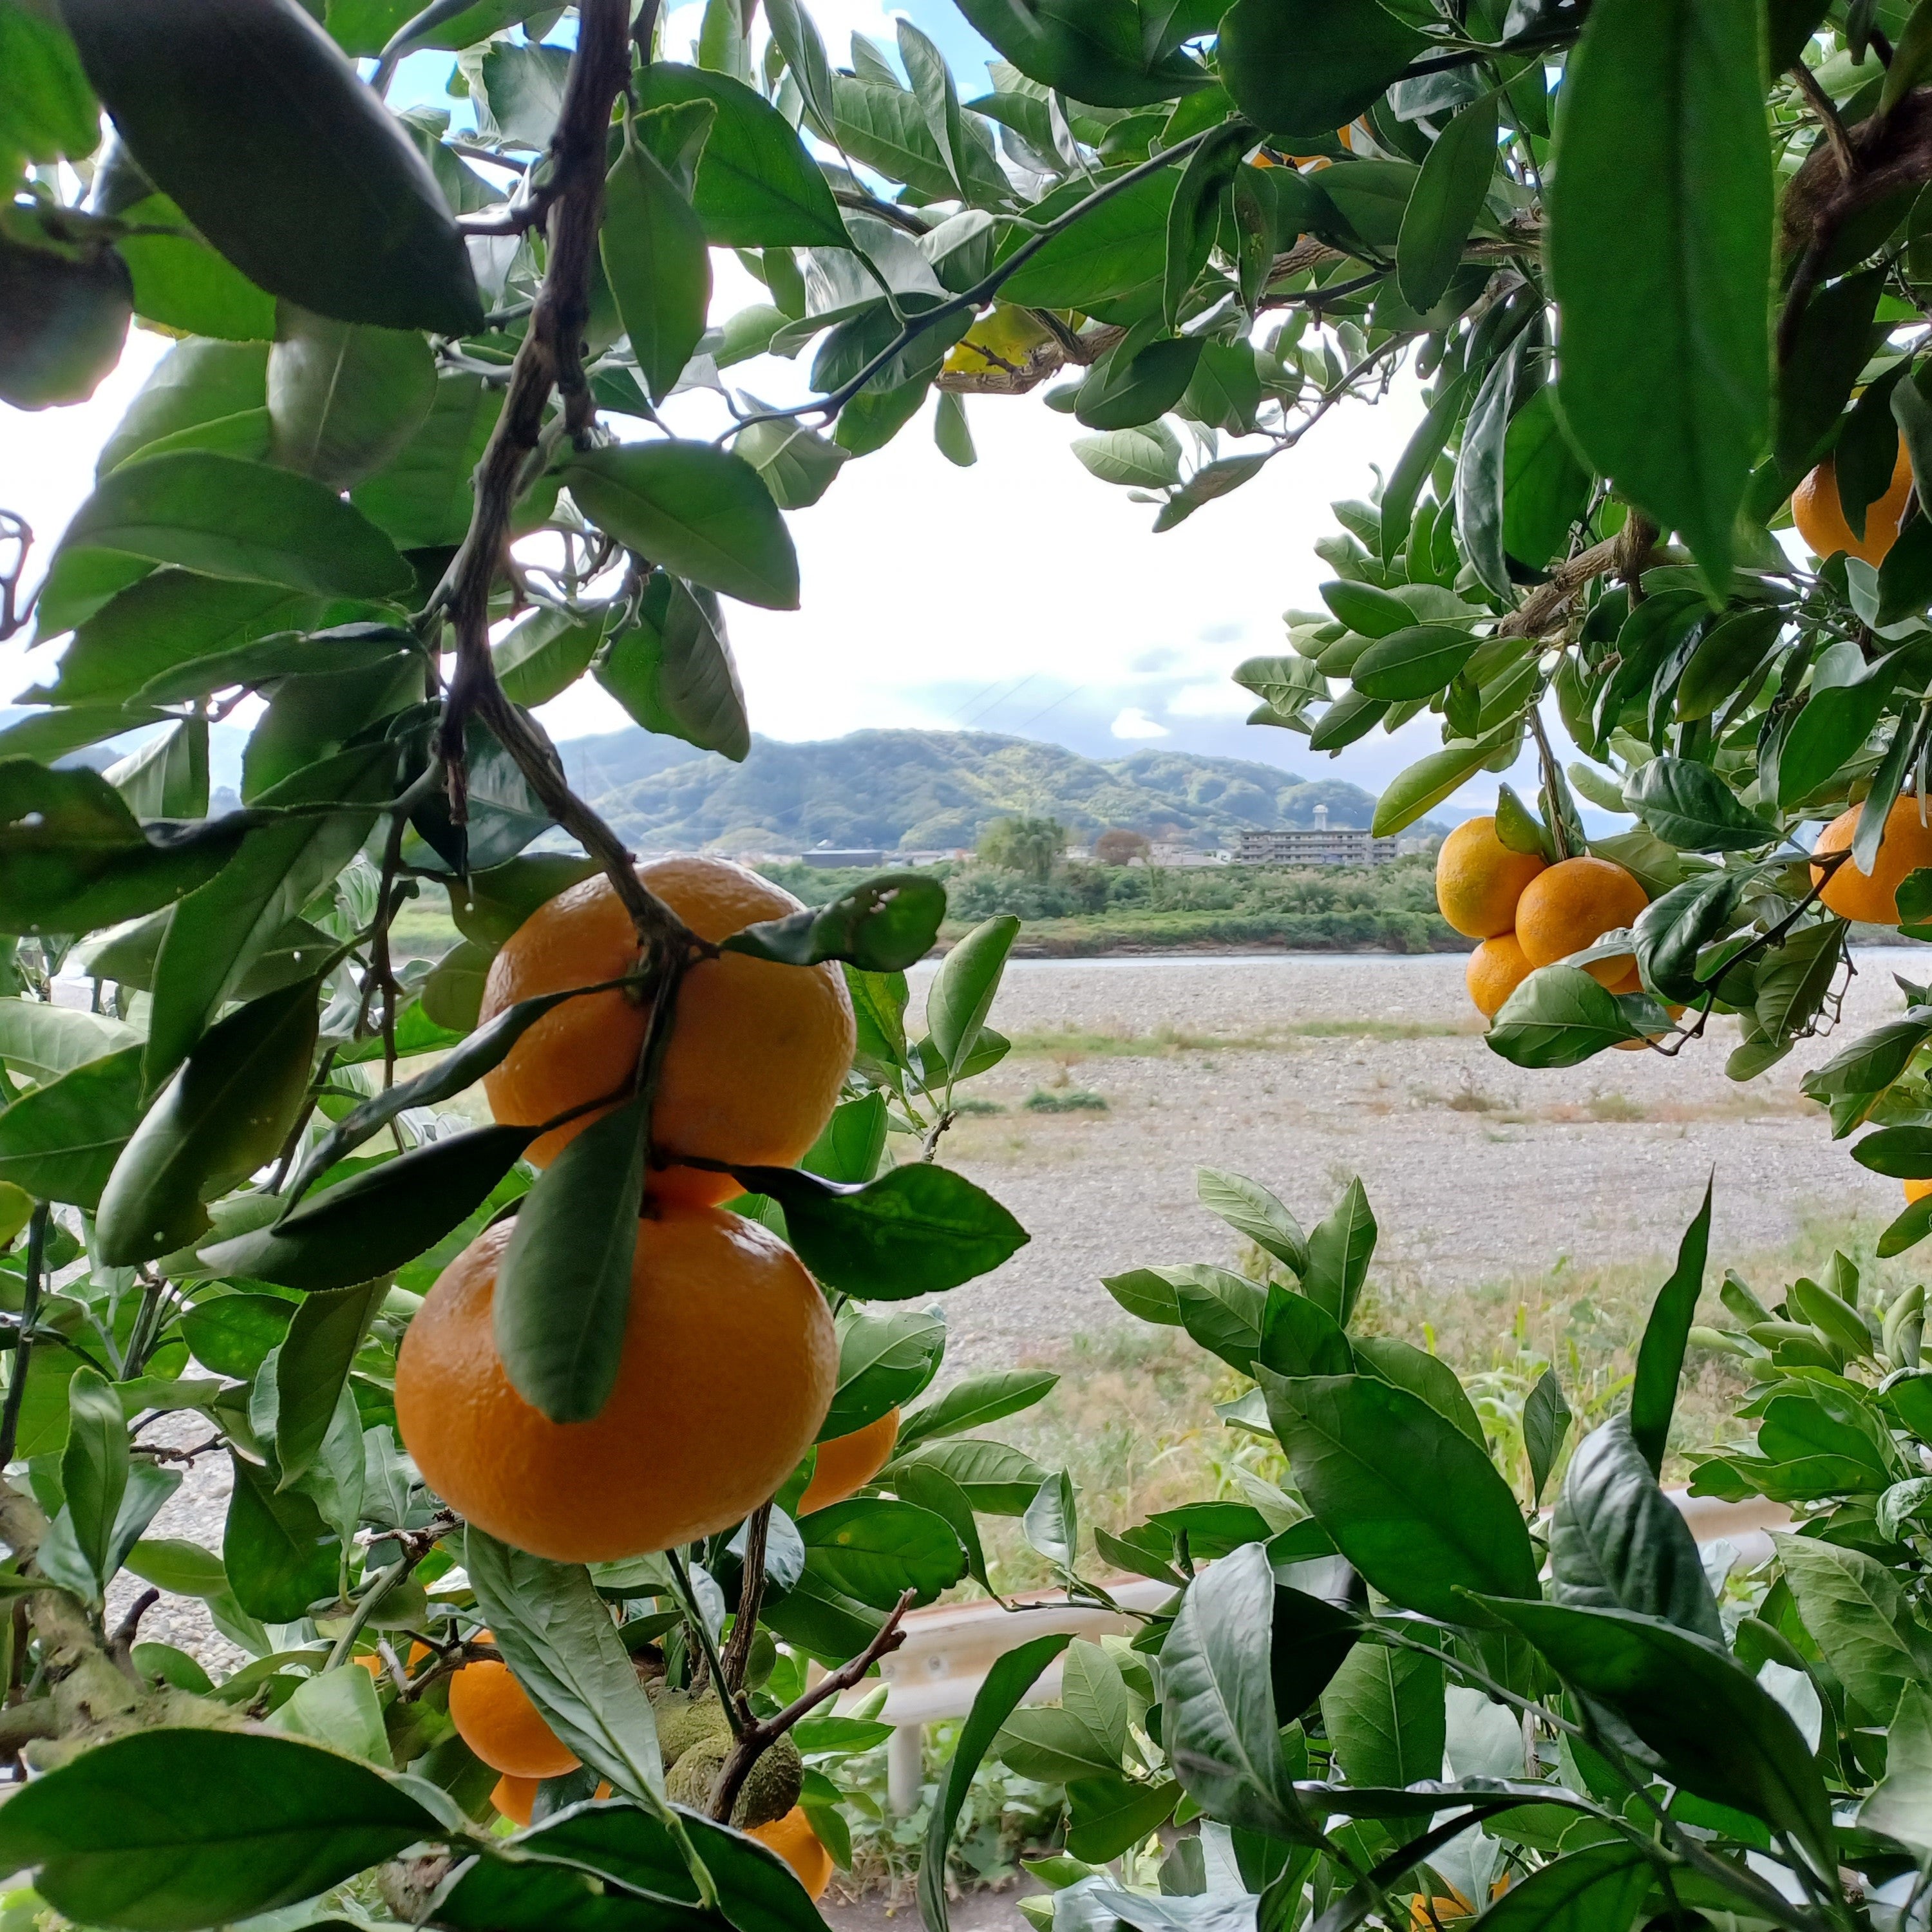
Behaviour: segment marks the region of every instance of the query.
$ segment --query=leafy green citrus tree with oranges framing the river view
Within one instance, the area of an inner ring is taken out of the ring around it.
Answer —
[[[1009,1515],[1074,1596],[1111,1602],[1095,1559],[1171,1596],[1132,1642],[1036,1636],[989,1673],[931,1808],[931,1932],[995,1747],[1065,1776],[1032,1907],[1065,1932],[1922,1924],[1922,1296],[1880,1304],[1849,1265],[1772,1300],[1725,1283],[1704,1345],[1752,1378],[1756,1434],[1696,1480],[1801,1522],[1719,1602],[1658,1486],[1708,1200],[1627,1408],[1573,1443],[1540,1376],[1499,1459],[1445,1362],[1362,1331],[1362,1186],[1304,1231],[1213,1171],[1267,1279],[1109,1287],[1252,1379],[1223,1420],[1283,1480],[1090,1559],[1066,1472],[972,1434],[1043,1381],[929,1397],[935,1318],[893,1306],[1024,1240],[939,1159],[1001,1053],[1016,922],[974,925],[908,1037],[937,881],[806,908],[711,862],[707,891],[659,893],[527,707],[593,674],[742,753],[719,599],[796,605],[784,514],[935,386],[964,464],[962,398],[1066,371],[1076,456],[1163,529],[1410,367],[1426,421],[1341,506],[1327,614],[1242,668],[1258,721],[1333,750],[1437,717],[1383,831],[1534,738],[1553,875],[1586,858],[1553,690],[1577,782],[1642,819],[1588,854],[1650,900],[1594,941],[1642,991],[1557,960],[1492,1039],[1524,1065],[1675,1051],[1721,1003],[1762,1065],[1826,1022],[1843,964],[1797,835],[1855,813],[1818,871],[1872,879],[1922,790],[1917,483],[1876,570],[1799,570],[1766,529],[1828,446],[1861,541],[1901,435],[1932,481],[1932,14],[966,0],[1003,58],[962,102],[910,23],[904,77],[866,41],[835,70],[798,0],[767,0],[763,44],[715,0],[699,66],[663,58],[649,4],[582,0],[568,46],[522,31],[535,10],[412,6],[0,0],[0,394],[89,394],[133,315],[184,338],[31,593],[6,524],[0,626],[71,634],[0,740],[19,1903],[128,1932],[810,1932],[837,1766],[879,1739],[831,1698]],[[475,139],[384,104],[435,44]],[[717,334],[713,245],[773,298]],[[699,352],[808,342],[811,400],[667,427]],[[1833,541],[1822,497],[1801,527]],[[243,696],[243,810],[209,817],[207,730]],[[137,726],[108,773],[58,763]],[[527,852],[551,827],[585,858]],[[427,974],[390,945],[425,893],[464,933]],[[77,974],[95,1010],[52,997]],[[1932,1005],[1907,997],[1816,1078],[1841,1132],[1882,1119],[1868,1161],[1924,1179]],[[483,1076],[493,1122],[444,1130]],[[1928,1229],[1920,1202],[1884,1246]],[[639,1405],[667,1337],[680,1376]],[[218,1553],[143,1534],[174,1488],[162,1414],[230,1459]],[[808,1509],[821,1455],[862,1486]],[[251,1662],[214,1685],[143,1650],[145,1598],[106,1611],[126,1571],[205,1596]],[[1022,1708],[1063,1654],[1061,1704]]]

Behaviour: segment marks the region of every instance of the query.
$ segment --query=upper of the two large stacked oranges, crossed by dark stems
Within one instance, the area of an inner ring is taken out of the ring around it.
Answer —
[[[719,858],[665,858],[638,877],[699,939],[724,939],[755,920],[800,910],[790,893]],[[611,881],[585,879],[539,906],[491,962],[481,1022],[535,993],[618,980],[638,964],[638,935]],[[483,1076],[491,1113],[520,1126],[583,1101],[624,1094],[638,1068],[649,1007],[626,993],[589,993],[547,1012]],[[670,1155],[790,1167],[819,1138],[852,1065],[852,1001],[837,966],[777,966],[738,952],[684,976],[665,1051],[651,1140]],[[549,1165],[599,1113],[537,1140]],[[653,1173],[663,1200],[707,1204],[740,1192],[728,1175],[672,1167]]]

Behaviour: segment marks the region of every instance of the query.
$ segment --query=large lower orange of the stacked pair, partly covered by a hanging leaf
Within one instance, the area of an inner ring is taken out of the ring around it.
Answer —
[[[402,1439],[442,1501],[597,1563],[711,1536],[777,1492],[838,1379],[825,1296],[777,1235],[674,1204],[638,1223],[624,1354],[591,1422],[551,1422],[510,1385],[491,1329],[508,1238],[498,1223],[450,1262],[396,1356]]]

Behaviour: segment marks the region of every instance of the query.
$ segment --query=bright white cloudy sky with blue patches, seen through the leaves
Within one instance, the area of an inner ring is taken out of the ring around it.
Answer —
[[[672,58],[699,12],[670,14]],[[987,50],[964,17],[945,0],[904,12],[945,46],[972,99]],[[893,43],[893,14],[875,0],[815,0],[813,14],[835,60],[854,29]],[[413,56],[396,99],[440,100],[448,60]],[[715,253],[713,265],[717,321],[763,298],[730,255]],[[0,406],[0,504],[33,524],[43,562],[89,491],[97,450],[166,348],[135,330],[89,404],[41,413]],[[726,375],[767,402],[790,402],[806,394],[806,367],[810,357],[761,357]],[[723,421],[713,398],[680,404],[674,421],[694,433]],[[1312,545],[1335,527],[1327,506],[1368,495],[1372,466],[1385,469],[1401,452],[1418,417],[1412,388],[1378,408],[1335,412],[1256,481],[1159,537],[1150,504],[1080,468],[1068,444],[1084,431],[1037,392],[970,398],[972,469],[939,454],[931,417],[927,404],[885,450],[848,464],[815,508],[790,516],[800,611],[726,607],[753,730],[825,738],[860,726],[974,726],[1099,757],[1144,746],[1219,752],[1370,790],[1439,742],[1424,717],[1393,740],[1374,734],[1335,759],[1316,755],[1302,736],[1242,724],[1252,699],[1229,680],[1240,659],[1285,649],[1285,609],[1318,605],[1329,570]],[[52,655],[29,657],[19,639],[0,645],[0,701],[44,678]],[[556,738],[628,723],[591,680],[543,717]],[[1493,796],[1484,775],[1455,804]]]

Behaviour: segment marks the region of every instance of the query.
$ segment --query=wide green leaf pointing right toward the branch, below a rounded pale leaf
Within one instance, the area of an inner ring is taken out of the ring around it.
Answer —
[[[83,549],[327,597],[386,597],[413,582],[388,539],[321,483],[207,450],[102,477],[58,554]]]

